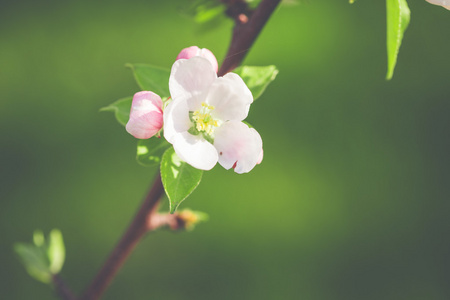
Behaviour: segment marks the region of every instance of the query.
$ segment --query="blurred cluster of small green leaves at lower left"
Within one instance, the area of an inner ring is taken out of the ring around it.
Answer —
[[[28,274],[44,283],[50,283],[52,275],[58,274],[64,265],[64,241],[57,229],[50,232],[48,241],[45,241],[41,231],[36,230],[33,234],[33,244],[16,243],[14,251]]]

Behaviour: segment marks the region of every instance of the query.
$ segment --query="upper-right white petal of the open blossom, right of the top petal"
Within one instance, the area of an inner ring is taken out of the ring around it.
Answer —
[[[228,73],[213,82],[206,102],[215,107],[212,111],[215,118],[242,121],[248,115],[253,96],[239,75]]]

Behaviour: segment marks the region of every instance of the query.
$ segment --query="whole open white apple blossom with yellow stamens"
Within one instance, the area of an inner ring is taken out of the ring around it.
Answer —
[[[217,77],[200,56],[179,59],[172,66],[169,89],[164,137],[183,161],[202,170],[219,162],[236,173],[249,172],[260,162],[261,136],[241,122],[253,96],[239,75]]]

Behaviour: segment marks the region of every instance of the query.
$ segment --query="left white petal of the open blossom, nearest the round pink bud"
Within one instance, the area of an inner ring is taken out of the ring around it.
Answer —
[[[174,136],[191,127],[189,108],[184,100],[172,100],[164,109],[164,137],[173,144]]]

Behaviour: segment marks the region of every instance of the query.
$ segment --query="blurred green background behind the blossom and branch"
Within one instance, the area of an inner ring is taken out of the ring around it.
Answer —
[[[104,299],[450,299],[450,12],[409,1],[392,81],[384,1],[301,1],[247,56],[278,66],[250,111],[264,161],[220,166],[181,208],[210,221],[148,235]],[[199,30],[186,1],[0,2],[0,298],[56,299],[12,251],[59,228],[80,292],[156,168],[99,108],[138,91],[125,63],[226,53],[232,23]]]

